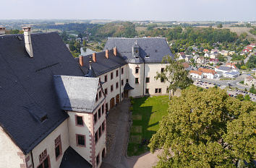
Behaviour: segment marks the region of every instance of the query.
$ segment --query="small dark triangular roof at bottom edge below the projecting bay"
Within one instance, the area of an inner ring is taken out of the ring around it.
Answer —
[[[72,147],[64,152],[59,168],[92,168],[93,166],[87,162]]]

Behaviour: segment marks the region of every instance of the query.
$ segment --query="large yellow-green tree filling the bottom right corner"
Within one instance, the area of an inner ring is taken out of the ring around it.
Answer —
[[[255,159],[256,110],[218,88],[191,86],[174,97],[150,140],[156,167],[235,167]]]

